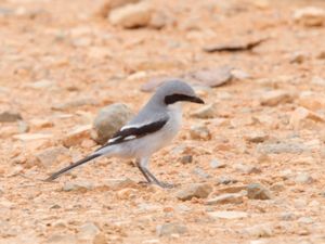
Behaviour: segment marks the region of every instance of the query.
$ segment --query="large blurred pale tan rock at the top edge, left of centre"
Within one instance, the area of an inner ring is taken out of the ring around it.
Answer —
[[[152,14],[152,5],[143,1],[114,9],[109,12],[108,18],[113,25],[136,28],[150,25]]]

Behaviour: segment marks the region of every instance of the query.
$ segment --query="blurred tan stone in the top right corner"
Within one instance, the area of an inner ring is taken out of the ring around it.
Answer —
[[[325,10],[317,7],[306,7],[294,13],[295,22],[307,27],[325,25]]]

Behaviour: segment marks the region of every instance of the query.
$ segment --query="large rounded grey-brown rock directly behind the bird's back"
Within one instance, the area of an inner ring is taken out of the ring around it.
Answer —
[[[100,144],[104,144],[131,119],[132,115],[131,110],[121,103],[115,103],[102,108],[93,123],[92,139]]]

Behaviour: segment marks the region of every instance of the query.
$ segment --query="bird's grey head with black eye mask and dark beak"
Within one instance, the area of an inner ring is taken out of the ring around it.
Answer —
[[[205,102],[195,94],[193,88],[181,80],[170,80],[164,82],[156,91],[155,94],[165,105],[172,105],[178,102],[192,102],[202,103]]]

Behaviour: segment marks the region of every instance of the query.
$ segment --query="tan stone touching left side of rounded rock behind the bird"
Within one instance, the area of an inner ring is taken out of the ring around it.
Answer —
[[[63,138],[63,144],[66,147],[80,144],[83,139],[89,138],[91,127],[91,125],[86,125],[73,128],[72,131]]]

